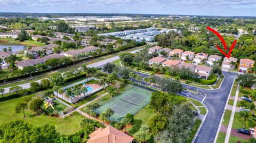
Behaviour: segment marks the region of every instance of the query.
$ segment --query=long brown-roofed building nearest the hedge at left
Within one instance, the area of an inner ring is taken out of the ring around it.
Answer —
[[[15,64],[18,66],[18,69],[22,70],[26,66],[35,66],[37,64],[44,64],[45,61],[50,60],[51,58],[61,58],[61,57],[66,57],[66,56],[61,54],[52,54],[52,55],[48,55],[41,58],[22,60]]]

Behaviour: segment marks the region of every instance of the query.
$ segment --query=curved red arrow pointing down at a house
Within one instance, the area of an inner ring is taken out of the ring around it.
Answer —
[[[212,31],[215,35],[217,35],[217,36],[220,38],[220,40],[221,40],[221,42],[222,42],[222,45],[223,45],[224,48],[225,48],[225,51],[227,51],[227,50],[228,50],[228,47],[227,47],[226,41],[225,41],[224,38],[220,35],[220,33],[217,32],[217,31],[215,31],[214,29],[212,29],[212,28],[210,28],[210,27],[206,27],[206,29]],[[231,53],[232,53],[232,51],[233,51],[233,48],[234,48],[235,45],[236,45],[236,41],[237,41],[237,40],[235,40],[235,41],[233,42],[233,44],[230,46],[229,51],[228,51],[228,54],[226,54],[226,53],[225,53],[219,46],[217,46],[217,45],[216,45],[216,48],[219,49],[219,51],[220,51],[223,55],[225,55],[227,58],[229,58],[230,55],[231,55]]]

